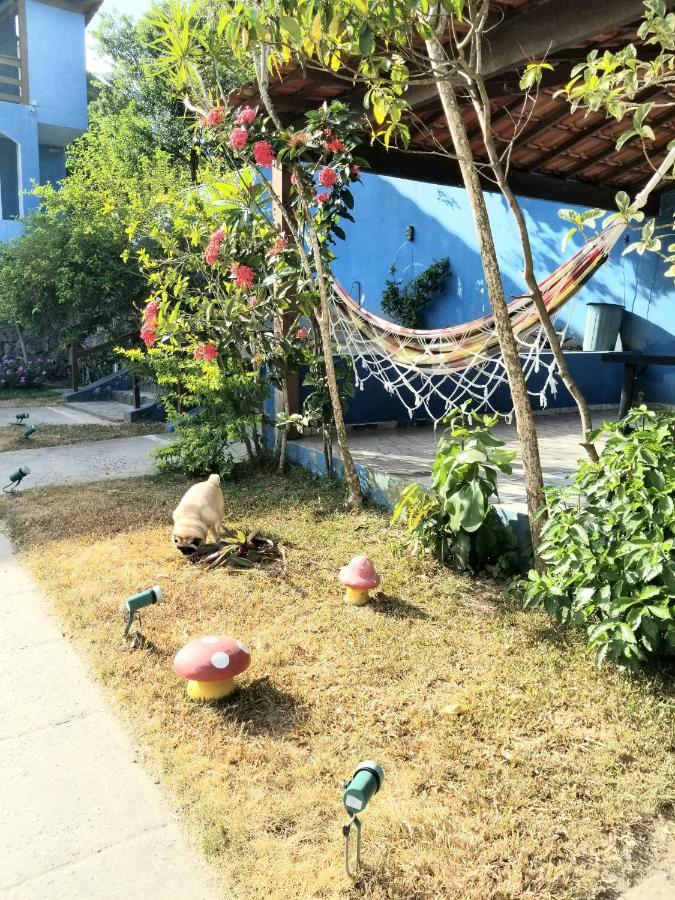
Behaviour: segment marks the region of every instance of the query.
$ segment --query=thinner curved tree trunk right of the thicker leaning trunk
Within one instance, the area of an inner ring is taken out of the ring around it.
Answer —
[[[570,368],[567,365],[567,360],[565,359],[565,354],[563,353],[562,345],[558,337],[558,332],[555,330],[555,326],[548,314],[548,309],[546,308],[546,304],[541,293],[541,288],[539,287],[539,283],[537,282],[537,277],[534,272],[532,245],[530,243],[530,234],[527,229],[527,223],[525,222],[525,216],[523,215],[520,203],[518,202],[515,194],[511,190],[511,186],[506,180],[504,166],[502,165],[502,161],[499,158],[499,154],[497,153],[497,148],[495,147],[494,138],[492,135],[492,127],[490,124],[490,106],[485,92],[485,84],[480,76],[474,77],[474,82],[480,93],[480,101],[474,98],[474,108],[476,109],[476,112],[478,114],[481,129],[483,131],[483,142],[485,144],[485,149],[487,150],[488,158],[490,160],[490,167],[495,176],[495,180],[497,181],[499,190],[502,192],[506,202],[509,204],[511,212],[513,213],[513,217],[516,220],[516,225],[518,227],[518,234],[520,235],[520,243],[523,251],[523,277],[525,278],[525,284],[527,285],[537,313],[539,314],[539,320],[541,321],[541,324],[544,328],[546,338],[551,347],[556,365],[558,366],[558,371],[560,372],[560,377],[562,378],[563,384],[572,395],[574,402],[577,405],[577,409],[579,410],[582,435],[581,446],[588,454],[591,462],[597,462],[599,459],[598,451],[596,450],[595,445],[590,443],[588,440],[588,434],[593,429],[591,411],[588,408],[588,402],[584,397],[581,388],[574,380],[574,377],[570,372]]]

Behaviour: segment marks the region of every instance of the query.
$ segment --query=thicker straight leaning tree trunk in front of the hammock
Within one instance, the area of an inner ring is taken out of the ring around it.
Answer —
[[[499,273],[499,263],[497,261],[497,253],[492,237],[487,207],[485,205],[485,197],[483,196],[483,190],[474,165],[471,147],[469,145],[466,128],[464,127],[464,121],[457,103],[454,88],[448,78],[444,77],[445,57],[443,48],[437,38],[430,38],[426,41],[426,49],[437,79],[436,86],[438,95],[441,100],[441,105],[443,106],[443,112],[445,113],[448,123],[450,136],[455,147],[464,186],[469,195],[476,234],[478,236],[478,246],[483,263],[483,272],[485,274],[490,304],[494,313],[495,331],[504,360],[504,367],[511,389],[511,396],[513,398],[513,408],[516,416],[516,427],[518,430],[518,437],[520,438],[520,451],[525,474],[525,494],[527,497],[527,509],[530,519],[532,547],[535,555],[535,564],[539,567],[541,563],[538,558],[537,547],[539,545],[543,517],[537,518],[537,513],[545,505],[545,496],[534,416],[532,415],[530,398],[528,397],[527,385],[525,384],[525,376],[520,364],[520,357],[518,356],[518,345],[513,334],[513,329],[511,328],[511,320],[509,318],[509,311],[504,296],[504,287]]]

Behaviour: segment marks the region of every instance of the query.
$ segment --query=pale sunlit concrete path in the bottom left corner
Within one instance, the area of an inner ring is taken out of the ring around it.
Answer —
[[[0,584],[0,896],[223,897],[2,535]]]

